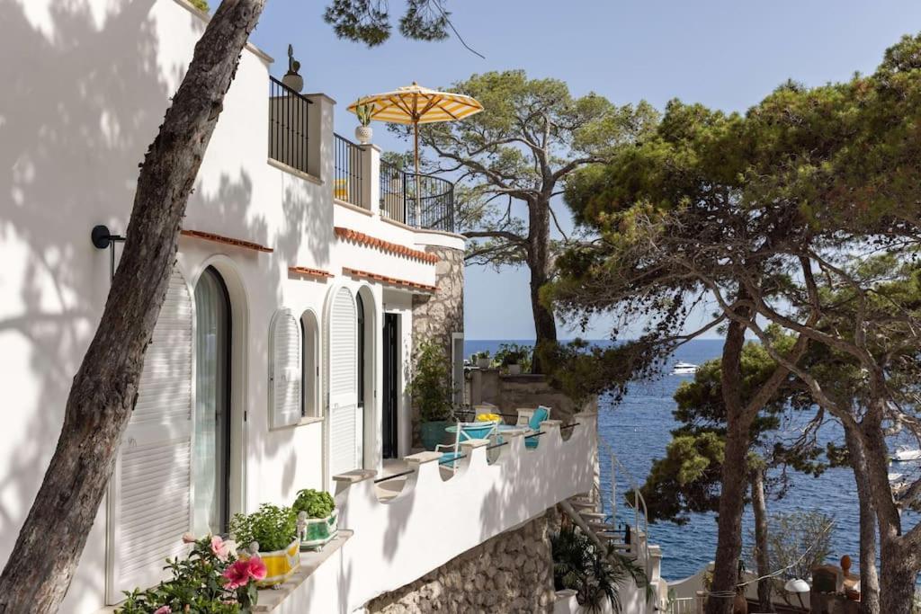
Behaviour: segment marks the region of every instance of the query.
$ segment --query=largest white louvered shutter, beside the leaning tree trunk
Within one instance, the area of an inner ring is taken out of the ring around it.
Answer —
[[[173,269],[110,492],[108,601],[163,577],[185,551],[192,499],[192,295]]]

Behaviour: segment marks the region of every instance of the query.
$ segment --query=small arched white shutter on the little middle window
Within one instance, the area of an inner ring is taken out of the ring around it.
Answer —
[[[300,421],[301,370],[300,327],[290,309],[275,312],[270,327],[269,415],[272,427]]]

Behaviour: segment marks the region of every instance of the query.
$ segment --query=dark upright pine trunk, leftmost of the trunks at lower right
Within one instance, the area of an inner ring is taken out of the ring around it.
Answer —
[[[717,518],[717,556],[706,614],[730,614],[739,576],[742,548],[742,511],[748,483],[749,423],[741,407],[741,353],[745,325],[732,320],[727,327],[721,359],[721,387],[726,405],[726,451]]]

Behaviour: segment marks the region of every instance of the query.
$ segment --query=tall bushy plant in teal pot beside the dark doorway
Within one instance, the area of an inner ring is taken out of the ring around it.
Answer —
[[[450,369],[444,349],[435,342],[425,342],[415,354],[413,380],[409,393],[419,409],[419,436],[426,450],[434,450],[444,441],[451,415]]]

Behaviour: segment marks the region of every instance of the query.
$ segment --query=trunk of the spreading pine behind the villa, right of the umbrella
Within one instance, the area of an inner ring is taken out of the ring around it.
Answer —
[[[550,201],[535,200],[528,203],[528,267],[530,268],[530,308],[534,317],[536,344],[556,341],[554,312],[541,301],[541,288],[550,282],[553,262],[550,257]],[[537,353],[531,362],[531,373],[543,373]]]

